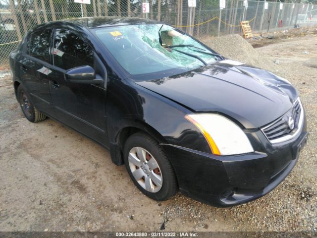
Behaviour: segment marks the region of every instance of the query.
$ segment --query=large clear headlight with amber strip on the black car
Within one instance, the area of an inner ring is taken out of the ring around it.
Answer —
[[[221,115],[191,114],[185,118],[204,134],[215,155],[236,155],[254,151],[243,130]]]

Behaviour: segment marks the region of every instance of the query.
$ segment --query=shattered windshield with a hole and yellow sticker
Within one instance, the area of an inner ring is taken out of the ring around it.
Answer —
[[[203,45],[167,25],[105,27],[95,33],[132,78],[171,76],[217,60]]]

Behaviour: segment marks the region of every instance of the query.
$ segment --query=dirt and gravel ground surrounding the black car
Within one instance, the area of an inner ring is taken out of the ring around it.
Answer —
[[[157,231],[164,221],[165,231],[316,231],[316,40],[305,36],[256,50],[237,35],[206,42],[293,83],[310,131],[285,181],[256,201],[225,209],[181,194],[164,202],[147,198],[104,148],[52,119],[23,118],[2,70],[0,231]]]

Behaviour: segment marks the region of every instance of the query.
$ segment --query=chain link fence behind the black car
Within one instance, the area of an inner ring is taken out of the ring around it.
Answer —
[[[149,13],[142,13],[148,2]],[[91,4],[74,0],[0,0],[0,62],[7,62],[9,53],[23,35],[38,24],[73,17],[123,16],[142,17],[173,25],[199,39],[241,33],[240,21],[249,20],[253,31],[275,31],[317,23],[317,5],[249,0],[197,0],[188,7],[182,0],[91,0]]]

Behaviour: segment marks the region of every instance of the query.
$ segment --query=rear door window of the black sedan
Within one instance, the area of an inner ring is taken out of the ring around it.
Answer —
[[[32,33],[27,42],[27,54],[50,62],[51,29]]]

